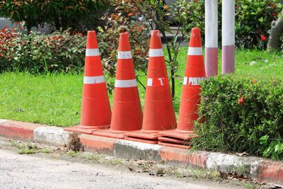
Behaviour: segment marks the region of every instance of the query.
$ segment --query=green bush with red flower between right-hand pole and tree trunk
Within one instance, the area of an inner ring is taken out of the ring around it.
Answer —
[[[236,1],[236,45],[264,48],[271,27],[282,9],[280,0]]]

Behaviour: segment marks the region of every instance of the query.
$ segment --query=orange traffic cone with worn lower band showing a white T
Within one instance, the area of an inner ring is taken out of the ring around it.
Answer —
[[[157,144],[159,131],[176,127],[173,101],[158,30],[151,32],[147,76],[142,129],[138,132],[127,132],[125,139]]]

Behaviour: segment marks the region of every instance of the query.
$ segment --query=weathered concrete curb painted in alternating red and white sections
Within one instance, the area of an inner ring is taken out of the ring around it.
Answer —
[[[62,127],[50,127],[28,122],[0,120],[0,135],[13,139],[34,140],[57,146],[66,146],[69,133]],[[131,142],[123,139],[79,135],[85,151],[119,156],[126,159],[163,161],[183,167],[217,170],[224,173],[243,174],[258,181],[283,185],[283,161],[271,161],[256,157],[243,157],[207,151],[189,151],[154,144]]]

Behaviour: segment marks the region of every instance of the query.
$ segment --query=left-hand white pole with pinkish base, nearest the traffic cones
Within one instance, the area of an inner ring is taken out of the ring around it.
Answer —
[[[207,77],[218,74],[217,0],[205,0],[205,71]]]

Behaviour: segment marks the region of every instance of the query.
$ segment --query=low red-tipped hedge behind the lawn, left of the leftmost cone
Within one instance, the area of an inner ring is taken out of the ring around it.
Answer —
[[[0,72],[83,70],[86,38],[80,34],[26,35],[4,28],[0,30],[0,44]]]

